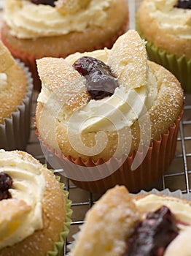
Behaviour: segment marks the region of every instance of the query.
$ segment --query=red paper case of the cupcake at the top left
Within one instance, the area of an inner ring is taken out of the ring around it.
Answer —
[[[106,48],[112,48],[112,45],[117,40],[117,38],[120,37],[120,35],[122,35],[126,31],[127,25],[128,25],[128,21],[127,21],[127,23],[125,23],[122,26],[122,29],[120,31],[118,31],[118,33],[115,34],[114,37],[112,37],[112,39],[109,39],[107,42],[104,42],[101,45],[96,45],[94,48],[87,49],[87,51],[103,49],[105,47]],[[30,72],[32,73],[32,78],[34,80],[34,89],[36,91],[41,91],[41,80],[39,79],[39,75],[38,75],[38,72],[37,72],[36,59],[42,59],[43,57],[47,57],[47,56],[42,55],[42,56],[37,57],[37,56],[35,56],[34,54],[31,54],[31,53],[23,53],[22,51],[15,50],[14,47],[12,47],[12,45],[9,45],[6,42],[6,39],[4,38],[3,33],[1,33],[1,39],[2,39],[2,42],[4,42],[4,45],[6,45],[7,48],[9,49],[9,51],[12,53],[12,56],[14,56],[16,59],[20,59],[20,61],[23,61],[26,64],[26,66],[30,69]],[[53,57],[55,57],[55,58],[66,58],[66,56],[68,56],[69,54],[71,54],[71,53],[67,53],[65,56],[62,56],[62,55],[58,54],[58,56],[53,56]]]

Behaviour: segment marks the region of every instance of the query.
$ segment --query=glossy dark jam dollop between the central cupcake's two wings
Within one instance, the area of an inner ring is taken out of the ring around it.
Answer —
[[[77,59],[73,67],[86,78],[86,89],[92,99],[112,96],[119,86],[117,78],[103,61],[85,56]]]

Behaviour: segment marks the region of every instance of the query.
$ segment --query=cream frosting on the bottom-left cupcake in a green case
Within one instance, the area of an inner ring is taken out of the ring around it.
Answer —
[[[0,249],[12,246],[24,238],[30,236],[35,230],[42,229],[42,200],[45,189],[45,181],[42,170],[38,165],[30,162],[30,159],[21,159],[19,154],[12,151],[0,150],[0,172],[7,173],[13,181],[12,189],[9,189],[13,202],[24,201],[29,210],[27,214],[21,214],[20,219],[6,219],[9,233],[1,236],[4,225],[0,226]],[[7,203],[9,199],[0,203]],[[8,218],[8,217],[7,217]],[[17,222],[17,227],[15,223]]]

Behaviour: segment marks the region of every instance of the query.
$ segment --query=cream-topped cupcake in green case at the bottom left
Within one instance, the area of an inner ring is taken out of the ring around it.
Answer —
[[[0,150],[0,255],[63,255],[70,204],[54,174],[24,151]]]

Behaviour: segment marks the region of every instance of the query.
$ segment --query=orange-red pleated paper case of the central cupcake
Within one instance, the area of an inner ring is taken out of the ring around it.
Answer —
[[[85,181],[84,179],[83,181],[85,173],[82,172],[82,168],[80,167],[85,166],[88,168],[95,166],[98,176],[99,173],[101,176],[102,168],[100,168],[99,165],[104,163],[103,159],[98,159],[97,162],[93,162],[92,159],[83,161],[81,158],[72,159],[72,157],[65,157],[61,152],[56,152],[53,148],[46,145],[40,136],[39,140],[43,146],[58,159],[58,162],[63,170],[69,170],[68,173],[65,171],[64,175],[68,176],[77,187],[85,189],[89,192],[103,194],[107,189],[120,184],[125,185],[130,192],[139,192],[140,189],[145,189],[147,186],[153,184],[157,178],[163,176],[169,165],[171,165],[176,150],[176,139],[182,114],[183,110],[180,113],[179,118],[177,118],[177,120],[174,122],[174,125],[169,127],[168,132],[161,135],[160,140],[154,140],[152,142],[151,146],[149,146],[146,157],[141,165],[136,168],[136,170],[131,170],[130,167],[133,163],[135,155],[139,154],[139,156],[142,157],[142,153],[135,151],[130,157],[123,156],[121,159],[112,157],[109,159],[109,161],[105,163],[108,173],[111,166],[120,167],[111,175],[99,180]],[[74,165],[71,165],[70,162],[74,163]],[[71,178],[71,173],[72,176],[76,177],[75,179]]]

